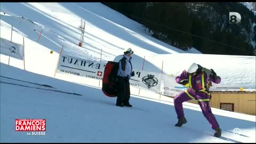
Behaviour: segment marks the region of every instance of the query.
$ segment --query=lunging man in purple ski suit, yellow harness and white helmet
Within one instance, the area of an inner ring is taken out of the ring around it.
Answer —
[[[178,115],[178,123],[175,126],[182,126],[187,123],[187,120],[183,113],[182,102],[194,99],[198,101],[202,112],[215,130],[214,136],[221,137],[221,129],[217,122],[217,119],[212,114],[209,101],[211,95],[209,88],[213,83],[219,84],[221,78],[217,76],[213,69],[209,70],[196,63],[193,63],[188,69],[183,70],[182,74],[176,77],[176,82],[182,85],[188,85],[189,88],[184,92],[181,92],[174,98],[174,107]]]

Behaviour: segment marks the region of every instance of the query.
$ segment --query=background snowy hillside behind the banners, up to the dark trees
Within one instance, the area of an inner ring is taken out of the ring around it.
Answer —
[[[15,9],[15,7],[19,7],[19,9]],[[33,45],[26,42],[26,46],[30,46],[26,48],[29,51],[30,49],[41,51],[42,45],[43,51],[50,49],[59,53],[63,45],[64,53],[73,57],[109,61],[114,60],[117,55],[123,53],[124,49],[131,46],[135,52],[132,60],[135,69],[142,69],[144,66],[143,70],[161,73],[163,65],[164,73],[178,75],[191,62],[198,62],[207,68],[217,69],[223,79],[218,85],[219,87],[252,87],[252,89],[255,87],[255,57],[239,56],[241,59],[237,59],[234,64],[234,57],[236,57],[234,55],[230,57],[229,55],[211,54],[189,54],[188,57],[186,54],[179,55],[179,53],[185,52],[154,40],[153,37],[148,36],[139,23],[100,3],[2,3],[1,12],[1,31],[4,31],[1,33],[1,37],[10,39],[11,25],[13,25],[15,31],[19,31],[19,34],[25,35],[26,38],[35,42]],[[82,49],[77,46],[81,33],[77,27],[80,25],[81,19],[86,21]],[[42,36],[37,42],[41,30]],[[17,34],[13,34],[13,41],[20,43],[21,39],[15,41],[15,37]],[[100,55],[101,50],[102,56]],[[56,61],[57,53],[49,55],[49,57]],[[36,57],[32,53],[31,55],[25,53],[25,55],[28,58]],[[54,57],[52,57],[53,55]],[[209,59],[211,64],[206,63],[209,60],[205,59]],[[243,62],[239,62],[242,59]],[[245,61],[246,59],[248,61]],[[7,61],[6,58],[2,60]],[[243,66],[243,63],[246,65]],[[34,67],[32,64],[27,67]],[[227,67],[229,67],[228,70]],[[54,68],[55,63],[50,68],[51,74],[48,76],[52,76]],[[229,71],[239,71],[239,75],[237,72],[229,73]],[[42,74],[45,71],[37,73]],[[234,79],[231,84],[230,79]],[[252,81],[248,79],[252,79]]]

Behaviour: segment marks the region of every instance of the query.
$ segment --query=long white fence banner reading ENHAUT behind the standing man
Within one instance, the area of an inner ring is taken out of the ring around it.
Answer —
[[[56,73],[102,80],[106,62],[75,58],[63,54],[62,51],[60,52]],[[175,82],[174,76],[163,74],[162,71],[161,73],[154,73],[143,71],[143,69],[133,70],[135,75],[130,79],[130,86],[132,87],[169,96],[175,96],[186,89],[186,87]]]

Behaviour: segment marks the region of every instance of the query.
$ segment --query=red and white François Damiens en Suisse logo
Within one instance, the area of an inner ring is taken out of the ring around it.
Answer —
[[[15,119],[15,131],[27,135],[45,135],[46,119]]]

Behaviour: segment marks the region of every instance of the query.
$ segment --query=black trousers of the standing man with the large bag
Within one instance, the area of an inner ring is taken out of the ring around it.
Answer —
[[[118,77],[117,80],[118,93],[116,104],[129,103],[130,100],[130,83],[123,77]]]

